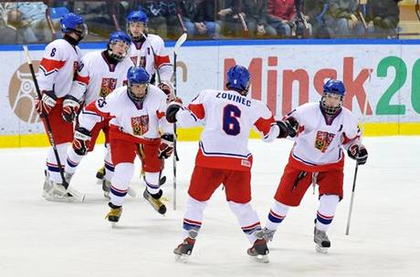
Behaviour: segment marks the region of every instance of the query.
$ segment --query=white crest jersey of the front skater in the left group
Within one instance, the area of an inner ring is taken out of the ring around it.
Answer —
[[[161,138],[164,133],[173,133],[173,125],[165,118],[166,95],[158,87],[150,85],[142,105],[135,105],[128,96],[127,87],[115,89],[107,97],[100,97],[83,109],[79,126],[91,130],[103,118],[112,118],[110,125],[136,138]]]

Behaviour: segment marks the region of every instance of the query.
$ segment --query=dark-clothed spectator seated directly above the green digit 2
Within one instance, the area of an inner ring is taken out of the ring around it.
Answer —
[[[394,36],[400,21],[398,2],[401,0],[369,0],[365,19],[370,34],[375,37]]]

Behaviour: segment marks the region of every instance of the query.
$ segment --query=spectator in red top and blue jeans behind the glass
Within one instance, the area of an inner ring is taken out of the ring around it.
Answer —
[[[303,36],[311,34],[311,26],[304,22],[305,15],[296,11],[295,0],[268,0],[268,23],[273,26],[280,36]],[[301,17],[300,17],[301,15]]]

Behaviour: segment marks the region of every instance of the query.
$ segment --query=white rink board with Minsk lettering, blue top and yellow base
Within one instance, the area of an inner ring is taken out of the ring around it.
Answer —
[[[419,45],[417,40],[187,41],[178,55],[178,95],[186,103],[202,89],[224,89],[226,70],[243,65],[252,75],[250,97],[261,99],[281,118],[318,101],[322,84],[336,77],[348,90],[344,106],[366,123],[365,135],[419,135]],[[35,61],[44,47],[29,47]],[[103,47],[81,45],[85,53]],[[172,56],[172,42],[167,51]],[[0,58],[6,65],[0,79],[0,147],[47,145],[21,46],[0,46]],[[179,139],[196,140],[199,133],[199,128],[180,129]]]

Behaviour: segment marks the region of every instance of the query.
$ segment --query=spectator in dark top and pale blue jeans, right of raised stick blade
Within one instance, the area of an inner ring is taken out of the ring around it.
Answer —
[[[220,26],[215,22],[215,1],[197,0],[194,13],[194,35],[217,38]]]

